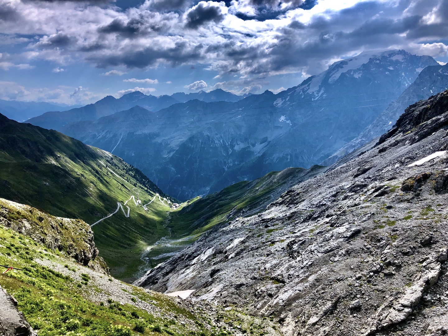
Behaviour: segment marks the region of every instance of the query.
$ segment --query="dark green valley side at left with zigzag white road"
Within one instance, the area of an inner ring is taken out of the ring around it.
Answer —
[[[0,197],[93,224],[137,191],[144,203],[155,193],[168,198],[142,172],[108,152],[0,115]],[[141,251],[168,234],[163,224],[169,208],[158,199],[148,211],[132,200],[127,205],[129,218],[120,210],[92,229],[111,273],[133,280]]]

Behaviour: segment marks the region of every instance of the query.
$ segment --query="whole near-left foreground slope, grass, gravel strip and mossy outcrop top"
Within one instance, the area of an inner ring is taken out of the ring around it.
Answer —
[[[25,221],[33,230],[22,234]],[[55,221],[62,226],[52,225]],[[41,230],[60,238],[63,248],[42,243],[34,234]],[[78,237],[68,230],[88,227],[0,199],[0,265],[17,268],[0,275],[0,290],[13,295],[39,336],[280,336],[278,324],[266,318],[234,307],[192,304],[83,266],[69,256]],[[241,332],[227,326],[239,326]]]

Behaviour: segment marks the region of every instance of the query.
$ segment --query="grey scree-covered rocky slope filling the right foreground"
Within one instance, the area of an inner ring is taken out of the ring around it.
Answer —
[[[203,236],[136,282],[245,307],[283,335],[443,335],[448,91],[265,211]]]

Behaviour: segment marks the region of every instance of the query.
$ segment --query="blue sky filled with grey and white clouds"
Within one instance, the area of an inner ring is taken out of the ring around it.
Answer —
[[[446,0],[0,0],[0,99],[279,92],[363,51],[448,61]]]

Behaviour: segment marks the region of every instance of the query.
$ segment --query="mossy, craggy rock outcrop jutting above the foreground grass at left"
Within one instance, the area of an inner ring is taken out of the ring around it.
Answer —
[[[97,257],[99,251],[95,247],[93,232],[83,220],[48,215],[36,208],[0,198],[0,224],[42,242],[49,249],[64,251],[85,266],[108,273],[103,258]]]

